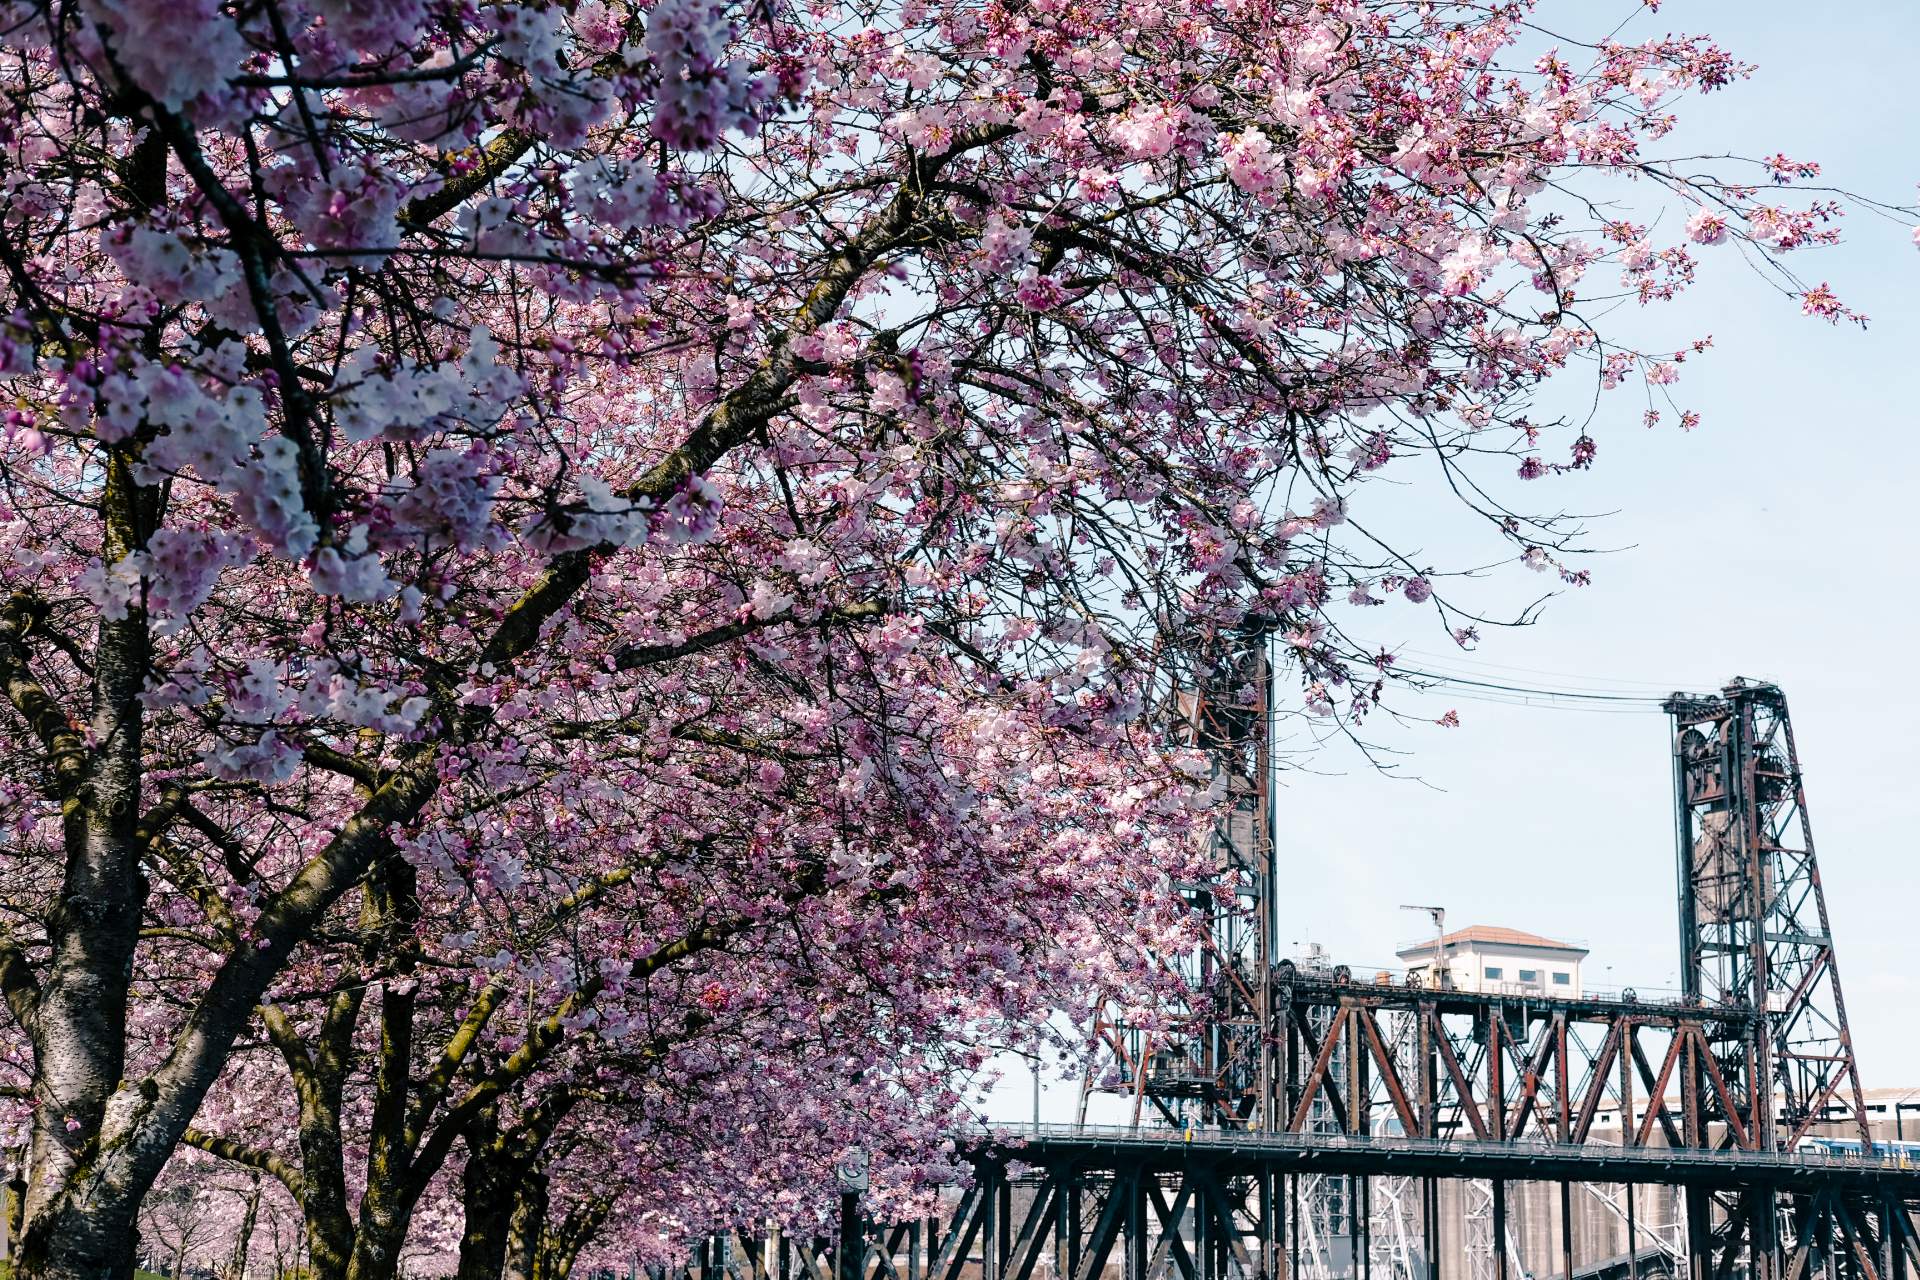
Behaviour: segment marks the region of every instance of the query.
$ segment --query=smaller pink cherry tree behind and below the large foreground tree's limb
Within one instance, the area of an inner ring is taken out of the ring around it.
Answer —
[[[950,1176],[950,1159],[914,1153],[962,1102],[941,1080],[977,1067],[1002,1025],[1073,1000],[1091,958],[1144,956],[1140,925],[1181,927],[1154,912],[1173,850],[1083,835],[1129,812],[1142,835],[1160,829],[1140,812],[1152,793],[1129,796],[1106,754],[1075,762],[1064,787],[1068,762],[1037,756],[1043,745],[1010,716],[900,743],[939,764],[939,794],[916,794],[916,779],[852,794],[837,756],[810,762],[789,739],[781,793],[760,804],[741,773],[772,756],[732,752],[680,752],[685,768],[664,770],[609,754],[597,775],[553,768],[538,802],[490,796],[388,867],[403,892],[369,898],[344,954],[309,946],[261,1007],[267,1044],[236,1054],[184,1140],[282,1180],[313,1268],[353,1276],[390,1270],[420,1207],[455,1188],[468,1234],[493,1228],[470,1247],[492,1249],[497,1274],[516,1197],[557,1136],[578,1146],[561,1130],[582,1111],[636,1117],[655,1163],[695,1142],[710,1167],[716,1134],[791,1128],[812,1105],[814,1161],[879,1134],[902,1190]],[[831,804],[810,814],[806,796]],[[557,833],[557,808],[582,829]],[[1121,844],[1129,873],[1092,864]],[[828,846],[837,871],[814,852]],[[482,865],[461,865],[476,848]],[[981,917],[983,900],[1008,906]],[[409,925],[397,944],[394,902]],[[1062,933],[1085,940],[1068,948]]]

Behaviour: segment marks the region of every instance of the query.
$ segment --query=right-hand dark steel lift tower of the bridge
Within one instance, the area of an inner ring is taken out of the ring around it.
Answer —
[[[1814,1125],[1843,1121],[1872,1151],[1788,699],[1776,685],[1736,679],[1718,695],[1676,693],[1665,708],[1674,725],[1682,990],[1692,1004],[1747,1015],[1705,1023],[1709,1052],[1690,1057],[1684,1080],[1701,1109],[1690,1142],[1791,1151]],[[1803,1197],[1688,1190],[1695,1276],[1713,1274],[1713,1257],[1743,1251],[1749,1274],[1768,1280],[1782,1244],[1811,1240],[1814,1228]],[[1832,1236],[1851,1230],[1826,1226],[1830,1255],[1847,1251]]]

